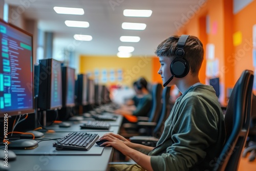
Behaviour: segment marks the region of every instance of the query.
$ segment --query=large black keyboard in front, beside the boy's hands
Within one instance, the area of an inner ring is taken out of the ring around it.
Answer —
[[[98,134],[74,132],[54,142],[53,146],[56,147],[57,150],[78,149],[88,151],[98,138]]]

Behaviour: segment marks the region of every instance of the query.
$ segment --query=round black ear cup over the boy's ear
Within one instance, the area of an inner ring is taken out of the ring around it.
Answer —
[[[170,72],[177,78],[182,78],[189,72],[189,65],[183,58],[175,58],[170,64]]]

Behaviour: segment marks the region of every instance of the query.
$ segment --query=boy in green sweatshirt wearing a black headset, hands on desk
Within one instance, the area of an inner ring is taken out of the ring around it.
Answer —
[[[113,164],[110,170],[212,170],[225,141],[225,127],[214,89],[199,80],[202,42],[195,36],[171,36],[161,42],[156,54],[164,86],[176,85],[182,95],[156,147],[132,143],[113,133],[100,137],[108,140],[102,145],[114,147],[137,163]]]

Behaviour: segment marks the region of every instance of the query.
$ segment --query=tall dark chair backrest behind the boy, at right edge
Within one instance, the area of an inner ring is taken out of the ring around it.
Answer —
[[[236,82],[225,114],[226,141],[214,170],[237,170],[244,148],[251,114],[253,72],[243,71]]]

